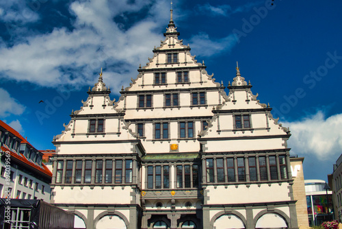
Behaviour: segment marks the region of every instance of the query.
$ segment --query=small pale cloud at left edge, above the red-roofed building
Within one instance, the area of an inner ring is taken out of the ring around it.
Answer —
[[[10,93],[5,91],[3,88],[0,88],[0,101],[0,117],[8,117],[9,115],[22,115],[25,110],[25,106],[11,97]]]

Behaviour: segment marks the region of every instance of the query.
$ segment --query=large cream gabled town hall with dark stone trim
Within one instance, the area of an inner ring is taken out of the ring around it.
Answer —
[[[51,202],[92,228],[298,228],[291,136],[237,67],[215,82],[171,20],[118,101],[98,82],[53,139]]]

